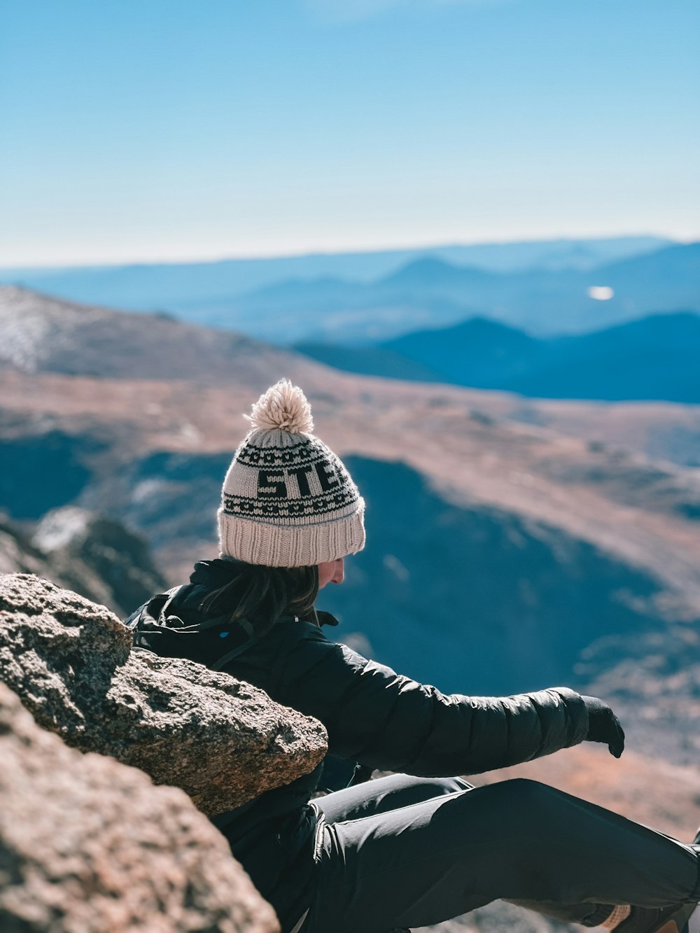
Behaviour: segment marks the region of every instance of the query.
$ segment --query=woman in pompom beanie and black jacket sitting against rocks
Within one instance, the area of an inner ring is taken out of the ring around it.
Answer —
[[[700,930],[700,845],[534,781],[453,776],[583,741],[619,758],[607,703],[565,687],[445,695],[326,637],[316,596],[364,546],[364,501],[300,388],[273,385],[249,421],[218,558],[129,621],[137,645],[254,684],[319,719],[332,756],[391,772],[319,797],[319,766],[214,819],[284,933],[389,933],[497,898],[620,933]]]

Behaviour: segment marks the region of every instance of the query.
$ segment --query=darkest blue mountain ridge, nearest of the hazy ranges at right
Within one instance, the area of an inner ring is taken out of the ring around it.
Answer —
[[[527,397],[700,404],[700,315],[651,314],[591,334],[542,339],[483,317],[372,347],[298,343],[337,369]]]

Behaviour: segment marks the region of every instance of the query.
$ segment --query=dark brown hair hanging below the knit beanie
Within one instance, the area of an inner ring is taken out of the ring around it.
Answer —
[[[318,567],[265,567],[231,561],[231,580],[204,596],[207,616],[247,620],[255,634],[272,629],[282,616],[313,618],[318,595]]]

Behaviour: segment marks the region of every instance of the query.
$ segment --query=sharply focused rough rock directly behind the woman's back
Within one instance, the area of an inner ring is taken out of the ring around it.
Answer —
[[[129,630],[47,580],[0,578],[0,677],[39,725],[181,787],[215,815],[311,771],[315,719],[201,664],[131,650]]]

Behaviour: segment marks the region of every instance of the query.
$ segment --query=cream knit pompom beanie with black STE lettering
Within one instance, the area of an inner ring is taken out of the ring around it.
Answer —
[[[365,502],[342,460],[311,433],[311,406],[282,380],[245,415],[251,430],[233,456],[218,509],[222,557],[301,567],[365,544]]]

